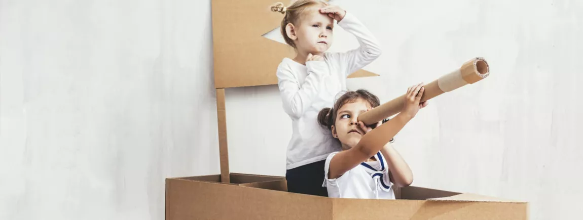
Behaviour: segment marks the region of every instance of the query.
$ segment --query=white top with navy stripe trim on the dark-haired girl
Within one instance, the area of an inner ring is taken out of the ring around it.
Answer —
[[[330,161],[336,153],[338,152],[333,152],[326,158],[324,166],[325,179],[322,186],[328,189],[328,197],[395,199],[388,164],[381,152],[375,155],[377,161],[363,162],[339,178],[328,179]]]

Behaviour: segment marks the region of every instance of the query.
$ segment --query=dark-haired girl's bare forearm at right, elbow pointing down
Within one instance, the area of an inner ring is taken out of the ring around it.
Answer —
[[[391,182],[399,187],[409,186],[413,183],[413,172],[409,168],[405,159],[396,151],[391,143],[387,143],[381,150],[381,154],[387,160],[389,172],[391,173]]]

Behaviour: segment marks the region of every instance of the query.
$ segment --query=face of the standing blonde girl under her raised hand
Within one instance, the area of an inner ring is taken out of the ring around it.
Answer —
[[[304,54],[322,54],[332,45],[334,20],[319,12],[319,6],[306,9],[295,27],[296,47]]]

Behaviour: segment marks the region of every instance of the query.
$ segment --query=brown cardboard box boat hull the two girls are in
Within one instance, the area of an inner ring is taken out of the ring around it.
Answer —
[[[166,179],[166,219],[528,219],[528,203],[405,187],[397,200],[289,193],[285,178],[232,173]]]

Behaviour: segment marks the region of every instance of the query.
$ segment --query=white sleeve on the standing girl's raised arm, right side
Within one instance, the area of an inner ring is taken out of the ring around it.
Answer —
[[[353,34],[360,44],[359,48],[338,54],[340,63],[345,65],[347,70],[346,76],[362,69],[382,54],[377,38],[352,13],[346,12],[346,15],[338,22],[338,25]]]

